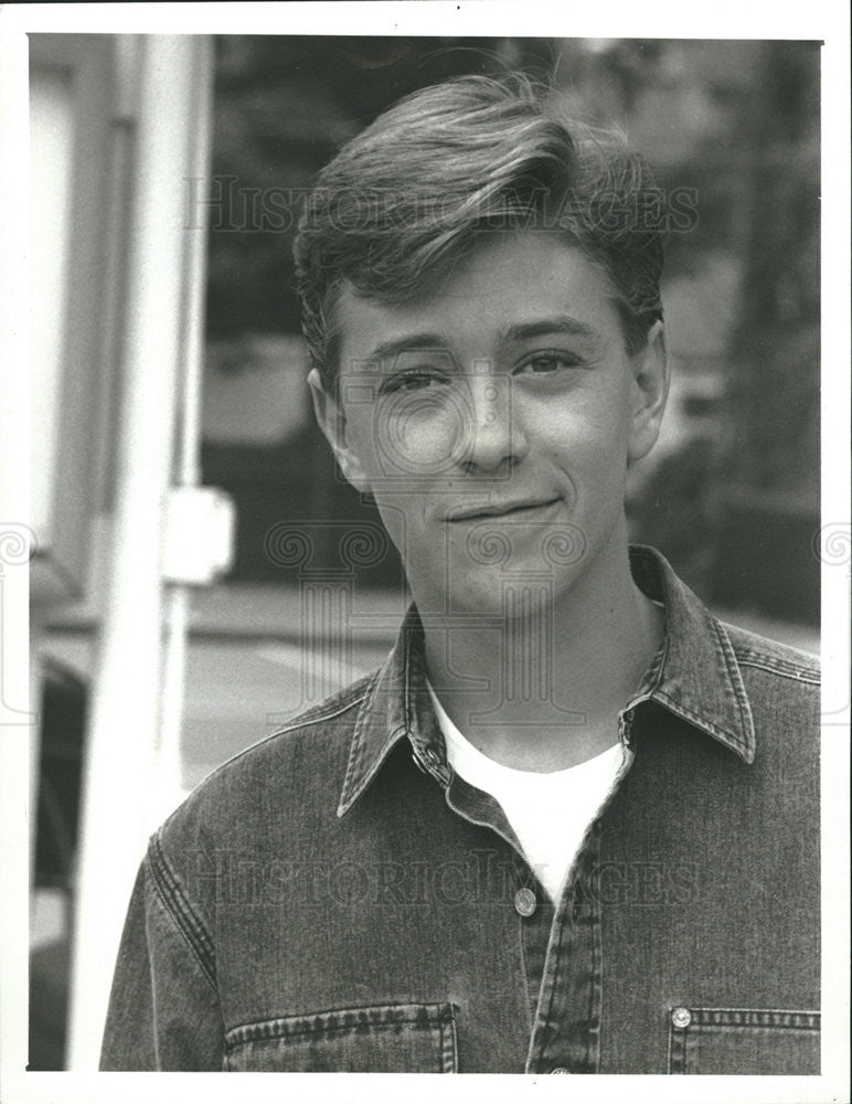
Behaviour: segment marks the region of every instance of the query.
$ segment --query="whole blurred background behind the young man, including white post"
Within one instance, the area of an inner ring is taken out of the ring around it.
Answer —
[[[404,608],[312,421],[291,262],[299,190],[402,95],[526,70],[683,190],[672,394],[632,535],[724,618],[818,649],[819,45],[30,41],[30,1068],[60,1070],[96,1057],[147,834],[376,666]],[[168,526],[146,514],[163,499]]]

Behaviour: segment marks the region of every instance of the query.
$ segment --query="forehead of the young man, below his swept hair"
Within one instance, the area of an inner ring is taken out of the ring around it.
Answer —
[[[436,286],[404,302],[344,288],[336,316],[341,369],[409,337],[490,355],[513,328],[565,316],[601,342],[621,339],[605,273],[579,246],[539,232],[483,235]]]

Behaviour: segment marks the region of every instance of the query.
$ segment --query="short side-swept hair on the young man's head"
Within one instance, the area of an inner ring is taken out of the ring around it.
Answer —
[[[561,117],[524,74],[413,93],[319,173],[294,253],[302,329],[323,386],[338,380],[341,290],[385,305],[425,293],[494,231],[549,230],[607,278],[628,352],[662,318],[659,191],[615,130]]]

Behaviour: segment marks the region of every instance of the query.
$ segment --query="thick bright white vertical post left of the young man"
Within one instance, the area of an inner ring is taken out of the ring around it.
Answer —
[[[142,46],[113,555],[86,736],[67,1065],[96,1069],[118,940],[150,824],[160,723],[162,520],[180,378],[199,38]],[[203,49],[206,49],[204,44]]]

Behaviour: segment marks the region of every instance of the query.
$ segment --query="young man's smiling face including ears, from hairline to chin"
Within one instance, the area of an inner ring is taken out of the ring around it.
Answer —
[[[606,578],[627,467],[657,438],[668,381],[659,327],[629,357],[579,248],[496,234],[428,296],[344,291],[338,320],[340,399],[313,373],[318,415],[422,613],[507,613],[505,581],[556,599]]]

